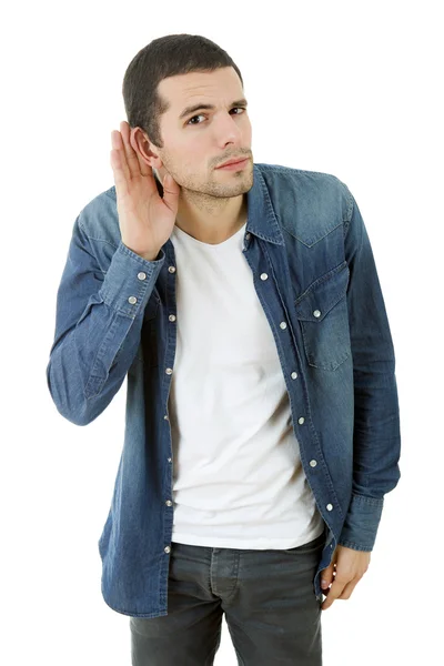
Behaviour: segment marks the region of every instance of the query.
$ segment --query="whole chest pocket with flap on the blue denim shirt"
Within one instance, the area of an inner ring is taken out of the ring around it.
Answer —
[[[336,370],[351,354],[346,263],[313,282],[294,302],[309,365]]]

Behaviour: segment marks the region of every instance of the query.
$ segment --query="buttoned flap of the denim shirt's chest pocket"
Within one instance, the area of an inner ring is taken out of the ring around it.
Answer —
[[[322,322],[324,316],[345,295],[349,285],[349,265],[340,266],[313,282],[294,302],[296,316],[307,322]]]

